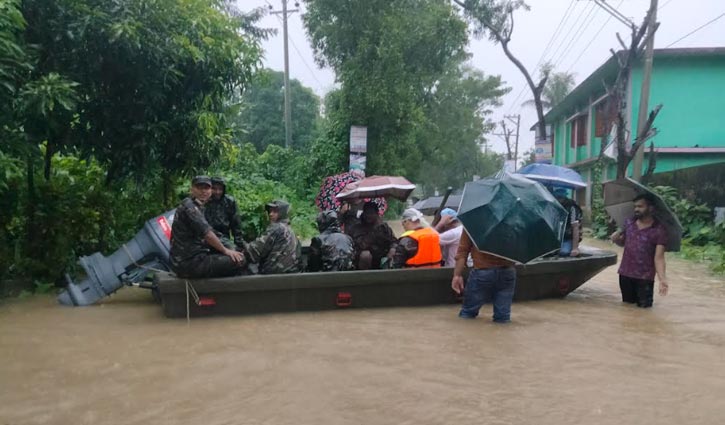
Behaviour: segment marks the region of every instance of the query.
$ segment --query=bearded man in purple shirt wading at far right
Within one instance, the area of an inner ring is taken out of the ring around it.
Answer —
[[[652,307],[655,274],[660,295],[667,295],[665,245],[667,232],[654,218],[654,197],[642,194],[634,198],[634,218],[624,229],[612,235],[612,242],[624,246],[619,265],[619,288],[622,301],[638,307]]]

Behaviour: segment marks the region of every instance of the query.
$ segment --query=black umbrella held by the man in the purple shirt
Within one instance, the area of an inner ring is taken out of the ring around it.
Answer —
[[[666,251],[679,251],[682,241],[682,225],[675,213],[665,204],[665,201],[646,186],[630,178],[622,178],[604,183],[604,209],[607,214],[617,222],[617,226],[624,228],[628,219],[634,215],[634,198],[637,195],[649,193],[655,200],[655,218],[667,231]]]

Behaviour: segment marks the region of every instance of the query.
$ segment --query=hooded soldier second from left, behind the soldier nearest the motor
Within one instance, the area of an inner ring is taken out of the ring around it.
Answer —
[[[244,246],[242,219],[237,211],[237,202],[226,191],[223,178],[211,178],[211,200],[204,206],[204,216],[224,246],[241,249]]]

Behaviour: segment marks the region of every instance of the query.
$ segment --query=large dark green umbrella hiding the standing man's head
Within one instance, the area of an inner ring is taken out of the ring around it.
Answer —
[[[558,250],[566,217],[544,186],[509,173],[466,183],[458,210],[476,248],[520,263]]]

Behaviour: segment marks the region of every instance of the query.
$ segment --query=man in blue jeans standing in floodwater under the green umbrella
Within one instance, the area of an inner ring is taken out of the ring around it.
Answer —
[[[474,270],[471,270],[468,282],[464,284],[463,270],[469,254],[473,259]],[[461,235],[461,242],[458,245],[451,288],[457,294],[463,294],[459,317],[473,319],[478,316],[478,311],[484,304],[492,303],[494,322],[511,321],[511,302],[516,289],[514,263],[479,251],[466,232]]]

